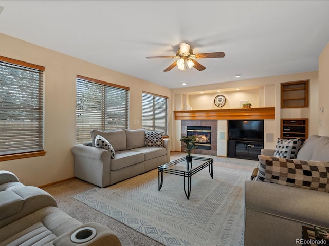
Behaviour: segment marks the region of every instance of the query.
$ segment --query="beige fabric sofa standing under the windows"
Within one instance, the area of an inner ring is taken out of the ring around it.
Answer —
[[[143,129],[91,130],[90,143],[72,148],[75,177],[106,187],[169,162],[169,139],[161,139],[163,147],[145,147],[147,134]],[[112,145],[113,158],[109,150],[95,147],[96,136],[104,137]]]

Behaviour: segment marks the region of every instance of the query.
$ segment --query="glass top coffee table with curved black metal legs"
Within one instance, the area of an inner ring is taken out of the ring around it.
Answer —
[[[158,183],[159,191],[163,185],[163,173],[171,173],[184,177],[184,192],[187,199],[190,199],[192,175],[198,171],[209,167],[209,174],[213,178],[214,173],[214,159],[205,157],[192,157],[192,162],[187,162],[186,158],[180,158],[174,161],[170,161],[158,167]],[[187,181],[186,181],[187,179]]]

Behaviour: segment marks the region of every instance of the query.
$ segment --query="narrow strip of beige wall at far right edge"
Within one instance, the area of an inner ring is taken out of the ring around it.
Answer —
[[[319,56],[319,135],[329,136],[329,43]],[[323,112],[320,108],[323,107]],[[321,125],[320,125],[321,124]]]

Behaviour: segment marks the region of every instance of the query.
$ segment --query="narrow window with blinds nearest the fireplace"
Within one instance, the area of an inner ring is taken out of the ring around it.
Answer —
[[[142,127],[168,136],[168,97],[143,92]]]

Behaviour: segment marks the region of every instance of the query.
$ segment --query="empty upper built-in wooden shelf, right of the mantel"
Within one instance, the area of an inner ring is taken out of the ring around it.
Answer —
[[[308,107],[308,80],[281,83],[281,108]]]

